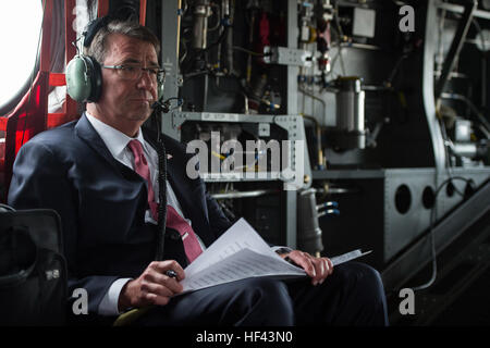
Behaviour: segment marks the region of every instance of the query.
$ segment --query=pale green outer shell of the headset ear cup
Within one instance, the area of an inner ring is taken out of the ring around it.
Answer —
[[[76,55],[66,65],[66,91],[73,100],[83,102],[91,94],[90,71],[86,59]]]

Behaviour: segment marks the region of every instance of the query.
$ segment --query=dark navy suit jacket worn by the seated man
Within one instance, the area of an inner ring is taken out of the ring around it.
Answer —
[[[149,132],[144,137],[154,142]],[[200,178],[189,179],[185,147],[164,136],[168,178],[186,217],[206,246],[230,227]],[[115,160],[85,115],[44,132],[16,157],[9,190],[15,209],[48,208],[62,221],[69,295],[88,291],[96,313],[112,282],[137,277],[154,260],[158,228],[145,224],[146,182]],[[164,259],[185,268],[183,244],[167,233]]]

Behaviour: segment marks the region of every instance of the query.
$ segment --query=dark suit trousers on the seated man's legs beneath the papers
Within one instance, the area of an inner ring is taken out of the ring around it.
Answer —
[[[172,298],[135,325],[164,326],[383,326],[387,300],[379,273],[358,262],[333,269],[320,285],[311,278],[247,278]]]

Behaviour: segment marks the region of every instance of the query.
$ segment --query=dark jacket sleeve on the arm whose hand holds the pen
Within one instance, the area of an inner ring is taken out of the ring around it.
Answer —
[[[25,144],[14,163],[9,204],[22,209],[53,209],[61,216],[64,257],[69,271],[69,301],[75,288],[88,293],[88,311],[97,313],[99,303],[117,276],[77,277],[77,190],[71,184],[71,164],[52,148],[34,139]],[[69,309],[70,310],[70,309]]]

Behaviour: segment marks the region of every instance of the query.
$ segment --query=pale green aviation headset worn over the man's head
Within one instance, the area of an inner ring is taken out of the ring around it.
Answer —
[[[114,17],[106,15],[91,21],[83,33],[83,46],[88,48],[96,34],[106,27]],[[66,91],[77,102],[97,102],[102,92],[102,72],[99,62],[93,57],[84,55],[82,52],[66,65]],[[163,95],[163,82],[158,84],[158,100]]]

